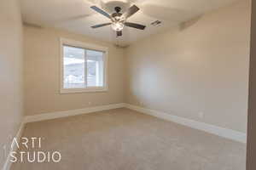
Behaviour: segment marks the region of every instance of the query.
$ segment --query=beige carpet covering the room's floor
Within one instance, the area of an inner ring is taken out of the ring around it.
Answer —
[[[61,162],[12,170],[245,169],[245,144],[127,109],[28,123],[23,136],[44,138],[40,150],[59,150]]]

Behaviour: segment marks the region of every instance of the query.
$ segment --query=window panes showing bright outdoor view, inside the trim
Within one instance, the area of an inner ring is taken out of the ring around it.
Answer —
[[[63,46],[63,88],[104,86],[104,52]]]

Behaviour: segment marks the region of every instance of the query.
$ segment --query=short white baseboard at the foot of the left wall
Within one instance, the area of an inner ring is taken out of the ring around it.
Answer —
[[[20,141],[20,137],[21,137],[21,134],[22,134],[22,132],[23,132],[23,129],[24,129],[24,123],[21,122],[20,128],[19,128],[18,132],[17,132],[16,135],[15,135],[15,139],[17,139],[17,142]],[[10,145],[11,145],[11,144],[10,144]],[[11,165],[12,165],[12,162],[10,161],[10,153],[11,153],[12,151],[16,151],[16,150],[18,150],[16,144],[10,146],[9,154],[8,154],[8,156],[7,156],[7,158],[6,158],[6,161],[5,161],[4,165],[3,165],[3,170],[9,170],[9,169],[10,169],[10,167],[11,167]]]

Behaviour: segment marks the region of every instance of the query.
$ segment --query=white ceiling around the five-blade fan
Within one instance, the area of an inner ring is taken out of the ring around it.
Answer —
[[[24,22],[38,26],[61,28],[95,37],[100,40],[128,45],[138,39],[159,31],[172,29],[180,23],[237,0],[21,0]],[[115,6],[128,8],[136,4],[141,10],[128,19],[143,24],[145,31],[125,27],[123,37],[116,37],[110,26],[91,29],[90,26],[109,22],[97,14],[90,6],[104,8],[109,14]],[[160,26],[151,26],[155,20],[162,21]]]

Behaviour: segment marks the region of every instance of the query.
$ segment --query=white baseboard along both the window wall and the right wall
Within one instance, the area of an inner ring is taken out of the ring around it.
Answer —
[[[40,115],[35,115],[35,116],[25,116],[24,122],[25,123],[26,122],[39,122],[39,121],[44,121],[44,120],[49,120],[49,119],[61,118],[61,117],[66,117],[66,116],[76,116],[76,115],[87,114],[87,113],[96,112],[96,111],[106,111],[106,110],[117,109],[117,108],[122,108],[122,107],[126,107],[126,108],[134,110],[134,111],[143,112],[143,113],[151,115],[151,116],[156,116],[161,119],[165,119],[167,121],[177,122],[184,126],[202,130],[207,133],[216,134],[216,135],[226,138],[226,139],[233,139],[233,140],[236,140],[241,143],[247,143],[247,134],[246,133],[241,133],[241,132],[238,132],[238,131],[235,131],[232,129],[228,129],[228,128],[224,128],[224,127],[218,127],[215,125],[207,124],[205,122],[196,122],[194,120],[190,120],[190,119],[183,118],[180,116],[173,116],[173,115],[165,113],[165,112],[154,111],[154,110],[146,109],[146,108],[139,107],[136,105],[129,105],[129,104],[125,104],[125,103],[113,104],[113,105],[102,105],[102,106],[89,107],[89,108],[72,110],[72,111],[56,111],[56,112],[45,113],[45,114],[40,114]]]

